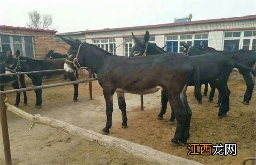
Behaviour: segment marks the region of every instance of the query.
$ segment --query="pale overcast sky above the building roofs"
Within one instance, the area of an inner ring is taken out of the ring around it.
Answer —
[[[26,27],[28,12],[51,14],[50,29],[73,32],[256,14],[256,0],[0,0],[0,25]]]

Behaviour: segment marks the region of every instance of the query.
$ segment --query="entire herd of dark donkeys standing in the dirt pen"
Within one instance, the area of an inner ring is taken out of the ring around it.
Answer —
[[[219,91],[217,106],[218,117],[227,116],[229,111],[230,90],[227,81],[233,70],[237,68],[246,83],[243,104],[248,105],[253,92],[256,71],[256,53],[251,50],[235,50],[231,52],[217,51],[207,46],[188,46],[182,43],[185,51],[181,53],[166,52],[149,41],[146,31],[143,39],[138,39],[132,33],[135,45],[129,57],[115,56],[96,45],[81,42],[78,39],[62,37],[70,45],[68,55],[49,51],[44,60],[19,56],[17,50],[12,55],[11,50],[1,61],[1,73],[27,72],[40,70],[63,69],[65,71],[51,73],[32,73],[27,76],[33,85],[42,85],[46,76],[66,74],[74,81],[77,79],[80,67],[89,67],[97,74],[98,82],[103,89],[106,102],[107,122],[102,133],[108,134],[112,124],[113,94],[117,93],[119,109],[122,112],[122,127],[127,128],[126,103],[124,93],[148,94],[161,89],[161,111],[158,119],[162,119],[169,101],[172,108],[170,122],[177,120],[176,133],[171,142],[175,146],[185,146],[189,138],[192,111],[189,107],[187,86],[195,86],[194,96],[198,103],[202,102],[201,85],[205,84],[204,95],[207,95],[208,83],[211,91],[209,102],[213,101],[215,88]],[[139,57],[140,56],[140,57]],[[253,75],[253,76],[252,76]],[[19,79],[19,80],[18,80]],[[14,89],[24,88],[24,75],[1,76],[1,91],[4,85],[12,84]],[[35,90],[36,107],[42,106],[42,90]],[[73,100],[78,99],[78,84],[74,84]],[[20,103],[20,93],[17,93],[16,103]],[[24,92],[24,104],[27,104]]]

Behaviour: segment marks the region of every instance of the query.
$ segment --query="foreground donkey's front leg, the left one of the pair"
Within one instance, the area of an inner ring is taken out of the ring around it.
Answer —
[[[105,97],[105,103],[106,103],[106,116],[107,116],[107,121],[106,121],[106,126],[102,129],[102,133],[105,135],[109,134],[109,129],[112,126],[112,112],[113,112],[113,92],[110,91],[105,91],[103,90],[103,94]]]

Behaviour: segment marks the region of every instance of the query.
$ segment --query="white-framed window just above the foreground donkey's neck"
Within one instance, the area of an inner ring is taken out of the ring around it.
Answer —
[[[94,39],[93,44],[115,55],[115,39]]]

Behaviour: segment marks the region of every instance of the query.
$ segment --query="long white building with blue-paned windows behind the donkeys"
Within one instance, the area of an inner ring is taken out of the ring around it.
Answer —
[[[134,44],[131,32],[142,38],[146,30],[150,33],[150,42],[154,42],[160,47],[166,45],[165,50],[169,52],[183,52],[180,42],[186,42],[193,46],[206,45],[217,50],[230,51],[245,48],[256,51],[256,15],[87,30],[57,35],[68,35],[96,44],[113,54],[129,56],[130,49]],[[56,38],[56,42],[62,41]]]

